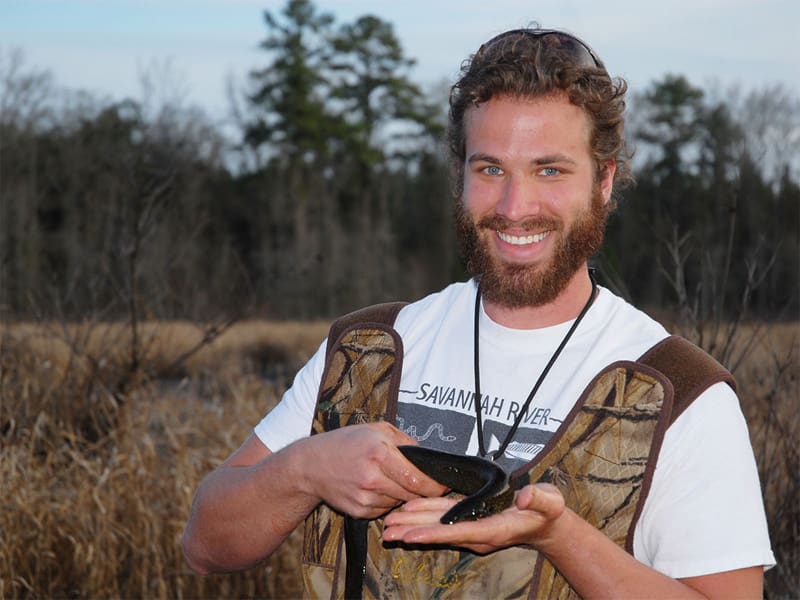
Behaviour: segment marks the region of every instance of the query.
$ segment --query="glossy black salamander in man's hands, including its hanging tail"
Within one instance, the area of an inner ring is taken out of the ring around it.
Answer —
[[[421,446],[398,446],[398,450],[431,479],[466,496],[442,516],[443,524],[475,521],[511,506],[514,489],[509,485],[508,475],[490,460]],[[345,516],[344,597],[348,600],[362,597],[367,565],[367,524],[366,519]]]

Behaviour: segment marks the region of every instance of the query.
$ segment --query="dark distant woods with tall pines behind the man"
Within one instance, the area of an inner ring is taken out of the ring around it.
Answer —
[[[100,99],[0,49],[0,316],[330,318],[464,277],[446,91],[376,16],[290,0],[264,24],[225,128],[163,74]],[[690,322],[796,318],[800,99],[668,76],[629,105],[603,283]]]

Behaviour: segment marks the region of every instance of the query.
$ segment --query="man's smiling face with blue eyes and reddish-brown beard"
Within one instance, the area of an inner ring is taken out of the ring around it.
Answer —
[[[465,119],[462,254],[487,302],[553,302],[602,245],[614,164],[596,177],[586,113],[564,95],[496,97]]]

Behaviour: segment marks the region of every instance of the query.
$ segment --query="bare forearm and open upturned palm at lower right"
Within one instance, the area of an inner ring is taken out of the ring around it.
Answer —
[[[478,521],[443,525],[452,498],[407,502],[384,520],[383,539],[448,545],[487,554],[510,546],[541,552],[583,598],[731,598],[762,596],[758,565],[673,579],[636,560],[600,530],[564,506],[552,485],[522,488],[515,505]]]

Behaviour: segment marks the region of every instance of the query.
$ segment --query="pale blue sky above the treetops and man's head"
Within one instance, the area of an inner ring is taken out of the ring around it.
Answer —
[[[225,81],[264,64],[264,9],[285,0],[0,0],[0,50],[69,88],[121,98],[139,73],[169,60],[186,102],[226,111]],[[800,95],[797,0],[317,0],[338,23],[391,22],[423,86],[452,80],[461,61],[505,29],[538,21],[585,39],[632,90],[666,73],[745,90],[782,83]]]

